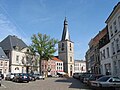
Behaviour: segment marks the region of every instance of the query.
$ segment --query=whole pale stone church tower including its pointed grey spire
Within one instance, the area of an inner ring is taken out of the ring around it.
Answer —
[[[58,43],[58,56],[63,61],[64,72],[72,76],[74,73],[74,43],[70,40],[66,18],[64,20],[62,39]]]

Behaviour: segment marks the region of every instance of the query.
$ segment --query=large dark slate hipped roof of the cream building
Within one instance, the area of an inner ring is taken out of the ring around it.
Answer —
[[[27,45],[19,39],[17,36],[9,35],[3,41],[0,42],[0,47],[3,50],[13,50],[14,46],[18,46],[20,48],[25,48]]]

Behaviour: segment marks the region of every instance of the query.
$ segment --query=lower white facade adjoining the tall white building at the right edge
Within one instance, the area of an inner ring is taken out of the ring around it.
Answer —
[[[113,61],[111,58],[111,44],[108,43],[100,49],[101,74],[113,75]]]

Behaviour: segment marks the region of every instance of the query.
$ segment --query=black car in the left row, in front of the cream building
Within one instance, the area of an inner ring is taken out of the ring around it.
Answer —
[[[29,82],[30,81],[30,78],[28,76],[28,74],[26,73],[17,73],[14,78],[13,78],[13,81],[15,82]]]

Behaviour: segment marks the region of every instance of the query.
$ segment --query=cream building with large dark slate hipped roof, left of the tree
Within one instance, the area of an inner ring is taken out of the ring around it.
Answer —
[[[28,46],[17,36],[9,35],[0,42],[6,56],[9,59],[10,73],[32,73],[35,69],[35,56],[30,54]]]

